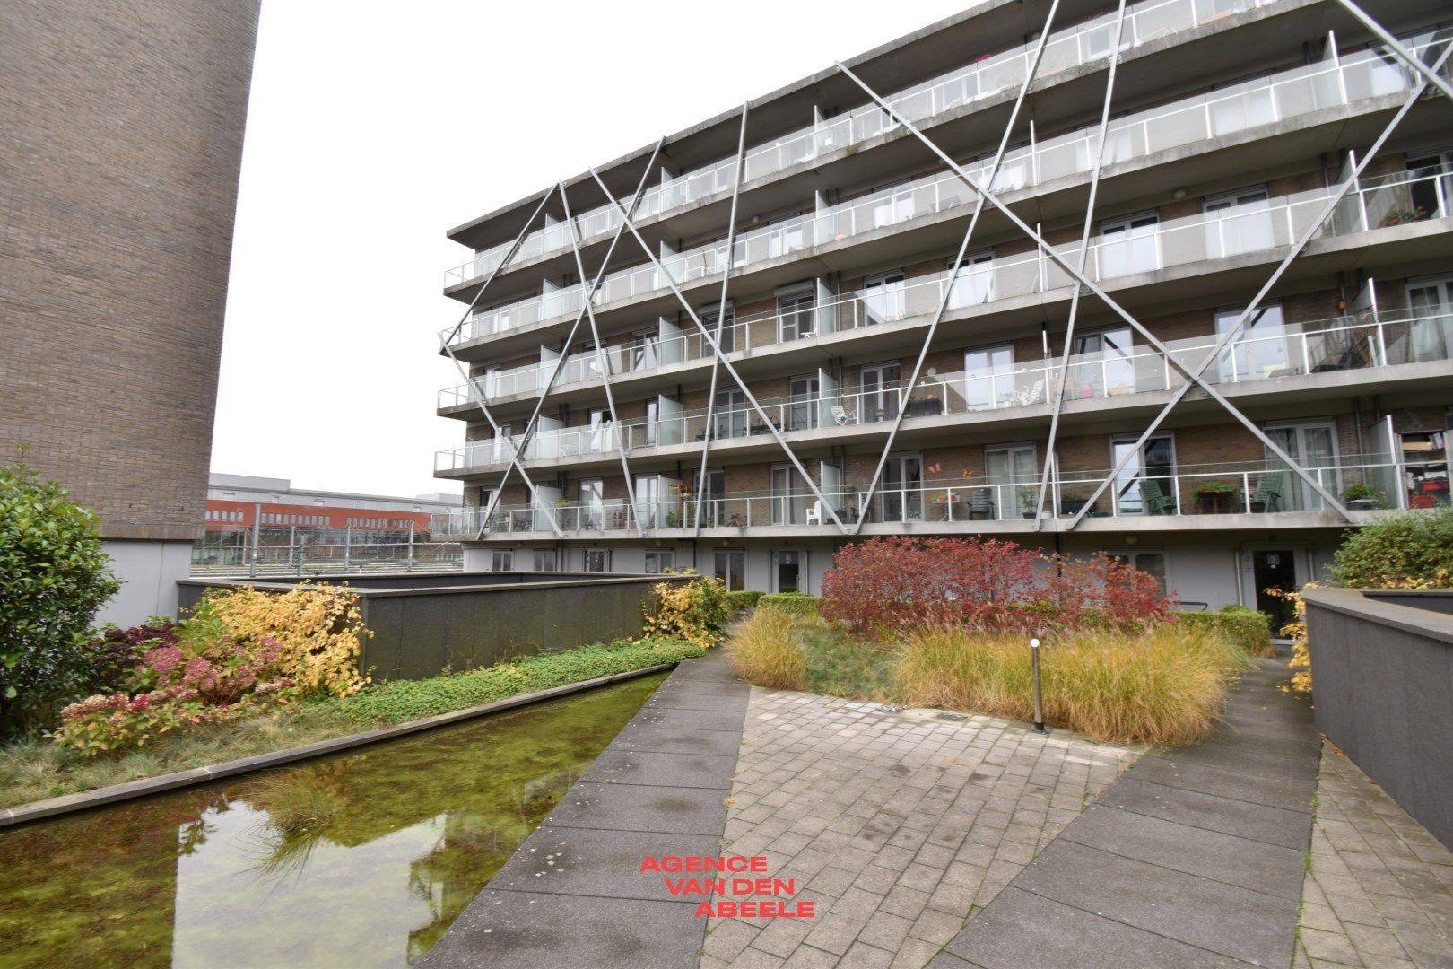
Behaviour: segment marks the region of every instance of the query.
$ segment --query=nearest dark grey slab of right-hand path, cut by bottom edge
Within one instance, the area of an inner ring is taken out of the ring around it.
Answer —
[[[969,923],[946,952],[984,969],[1222,969],[1247,965],[1013,886]]]

